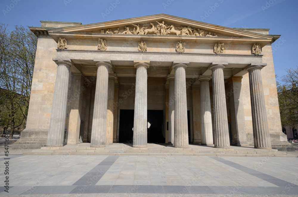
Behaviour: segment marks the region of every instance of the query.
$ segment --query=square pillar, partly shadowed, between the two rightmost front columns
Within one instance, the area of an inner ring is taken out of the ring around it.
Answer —
[[[242,76],[231,76],[228,81],[227,96],[230,101],[232,145],[248,146],[246,140],[244,107],[240,98]]]

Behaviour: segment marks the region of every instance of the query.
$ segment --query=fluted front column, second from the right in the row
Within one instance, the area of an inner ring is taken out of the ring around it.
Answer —
[[[225,66],[221,64],[210,66],[213,86],[215,148],[227,148],[230,146],[224,88],[224,68]]]

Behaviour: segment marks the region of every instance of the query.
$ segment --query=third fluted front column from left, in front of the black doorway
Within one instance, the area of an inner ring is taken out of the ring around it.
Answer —
[[[134,101],[133,147],[147,147],[147,68],[149,64],[136,62],[136,91]]]

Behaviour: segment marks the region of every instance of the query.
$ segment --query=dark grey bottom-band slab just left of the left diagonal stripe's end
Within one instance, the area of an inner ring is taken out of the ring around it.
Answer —
[[[68,194],[75,186],[36,186],[22,194]]]

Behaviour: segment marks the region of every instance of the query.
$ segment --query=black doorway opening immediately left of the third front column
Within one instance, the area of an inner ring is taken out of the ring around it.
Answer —
[[[132,143],[134,132],[134,110],[120,110],[119,142]]]

